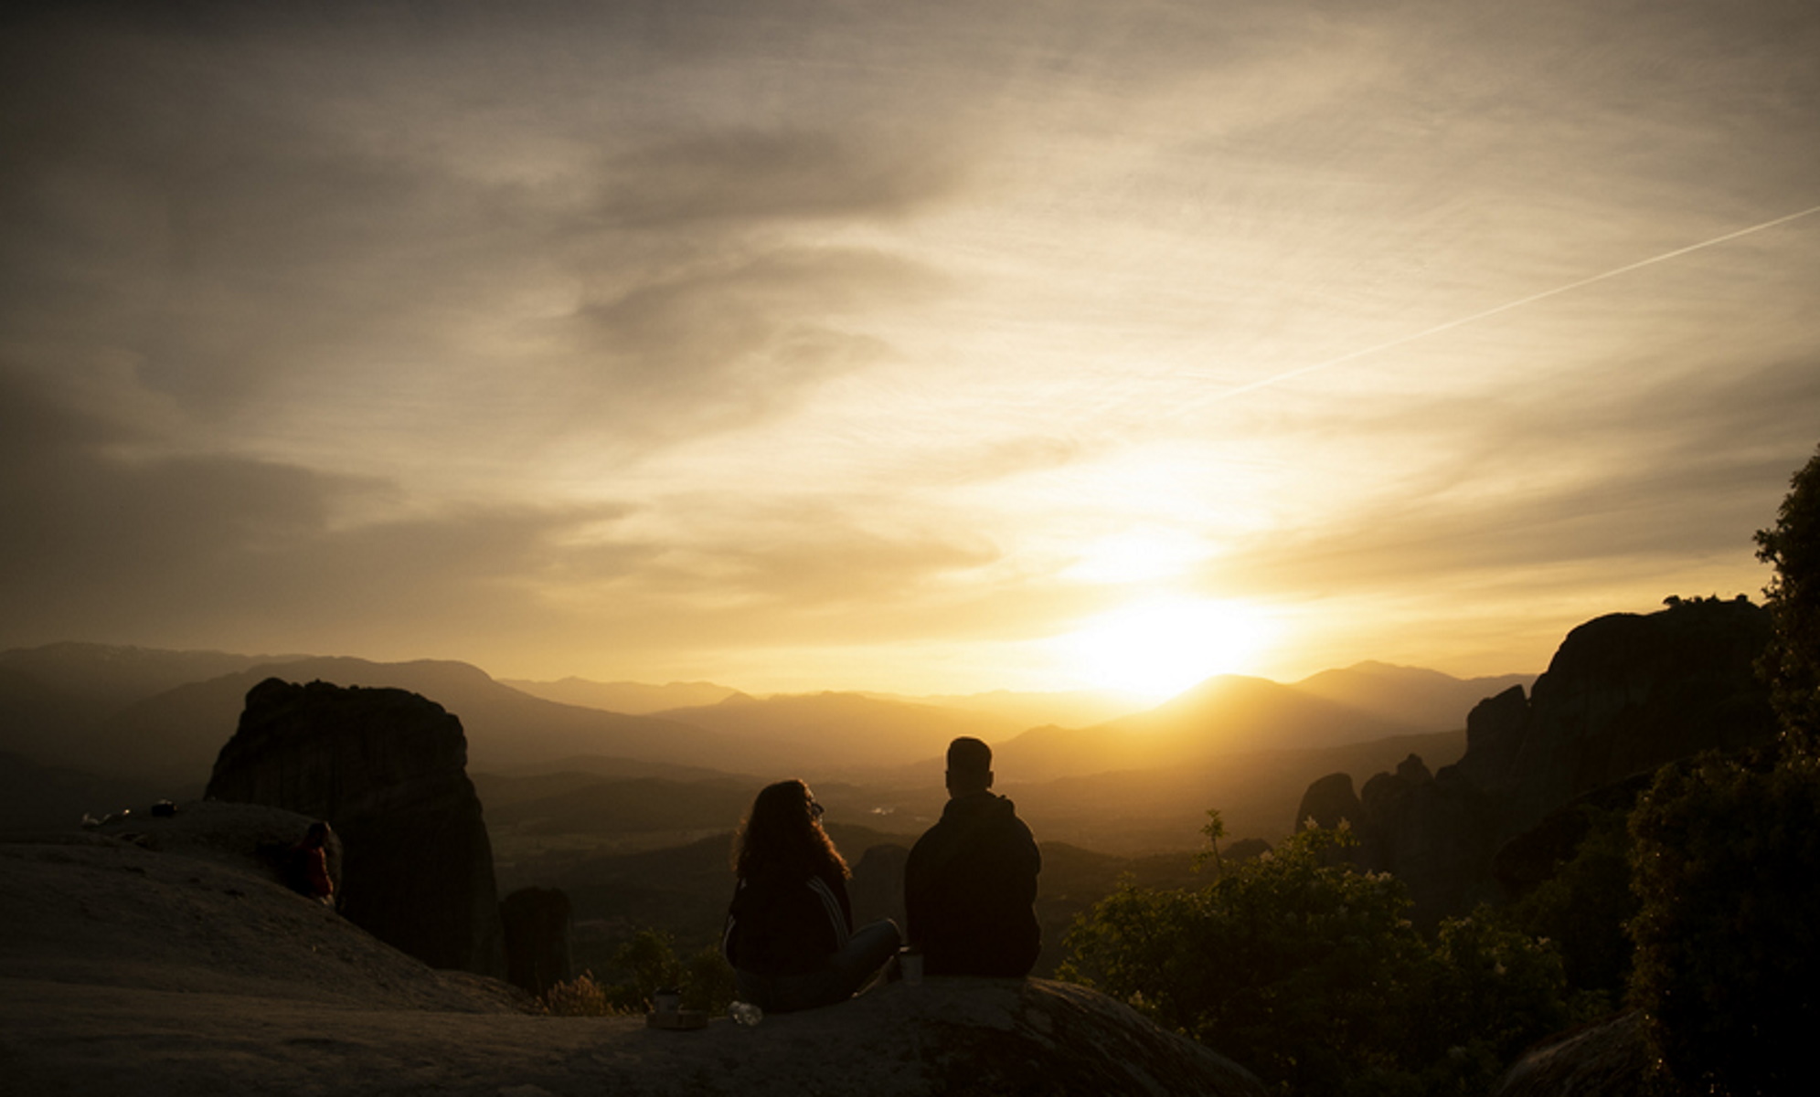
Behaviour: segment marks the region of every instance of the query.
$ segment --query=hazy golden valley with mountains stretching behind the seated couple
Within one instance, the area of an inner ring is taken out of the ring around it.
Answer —
[[[710,682],[500,682],[460,662],[249,657],[55,644],[0,653],[4,826],[67,830],[84,815],[200,795],[248,689],[268,677],[395,686],[457,715],[500,893],[561,886],[577,962],[601,966],[633,930],[713,939],[728,844],[757,788],[803,777],[861,873],[941,813],[956,735],[997,751],[997,788],[1045,846],[1039,917],[1061,957],[1072,919],[1121,873],[1192,879],[1208,808],[1228,835],[1279,840],[1318,777],[1445,766],[1465,713],[1532,677],[1460,680],[1360,664],[1296,684],[1219,677],[1154,708],[1094,693],[750,697]],[[610,711],[606,702],[639,711]],[[892,897],[875,899],[888,913]]]

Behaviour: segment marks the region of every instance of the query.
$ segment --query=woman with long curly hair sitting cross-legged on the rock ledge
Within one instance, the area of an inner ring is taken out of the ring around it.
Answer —
[[[897,953],[897,922],[854,931],[846,862],[801,780],[759,791],[735,842],[721,951],[741,1001],[784,1013],[846,1001]]]

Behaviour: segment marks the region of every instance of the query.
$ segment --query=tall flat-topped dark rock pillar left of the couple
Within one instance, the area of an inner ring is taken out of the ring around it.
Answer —
[[[435,968],[504,975],[493,853],[468,740],[404,689],[266,679],[246,695],[207,795],[326,819],[342,913]]]

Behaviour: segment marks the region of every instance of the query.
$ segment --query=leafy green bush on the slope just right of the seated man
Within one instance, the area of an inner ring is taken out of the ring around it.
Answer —
[[[1480,1093],[1567,1021],[1560,955],[1481,919],[1425,939],[1403,884],[1307,830],[1196,891],[1123,886],[1059,975],[1243,1062],[1279,1093]]]

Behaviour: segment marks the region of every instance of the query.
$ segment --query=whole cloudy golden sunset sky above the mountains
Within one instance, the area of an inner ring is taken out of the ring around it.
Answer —
[[[0,16],[0,648],[1540,671],[1820,442],[1820,5]]]

